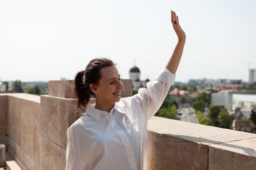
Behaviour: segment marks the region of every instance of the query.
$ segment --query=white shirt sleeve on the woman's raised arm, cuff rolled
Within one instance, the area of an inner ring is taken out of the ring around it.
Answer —
[[[171,85],[175,82],[175,76],[167,68],[163,68],[155,79],[147,83],[147,88],[139,89],[141,114],[145,114],[148,120],[162,106]]]

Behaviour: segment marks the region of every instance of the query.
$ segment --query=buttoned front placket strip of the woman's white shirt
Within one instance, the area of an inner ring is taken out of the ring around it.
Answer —
[[[131,170],[137,170],[137,164],[135,161],[135,157],[133,155],[132,147],[130,145],[130,141],[128,140],[128,137],[126,136],[126,133],[117,125],[117,123],[115,122],[115,119],[114,119],[114,117],[112,117],[112,115],[110,115],[110,117],[108,119],[111,123],[112,128],[115,130],[115,132],[119,136],[119,139],[122,141],[122,143],[124,145],[125,152],[126,152],[128,161],[131,166]]]

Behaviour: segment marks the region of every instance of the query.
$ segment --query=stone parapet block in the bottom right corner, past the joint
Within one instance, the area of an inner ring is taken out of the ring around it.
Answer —
[[[209,170],[255,170],[256,137],[209,146]]]

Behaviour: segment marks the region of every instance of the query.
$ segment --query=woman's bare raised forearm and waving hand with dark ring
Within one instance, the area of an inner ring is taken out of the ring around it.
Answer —
[[[179,18],[174,11],[171,11],[171,22],[173,24],[173,29],[178,37],[178,42],[173,50],[173,54],[166,64],[166,68],[171,71],[171,73],[175,74],[177,68],[180,64],[180,59],[183,53],[183,48],[186,41],[186,34],[180,27]]]

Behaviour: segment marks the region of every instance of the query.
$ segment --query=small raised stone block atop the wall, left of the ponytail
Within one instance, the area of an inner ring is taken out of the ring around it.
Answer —
[[[73,98],[71,95],[71,85],[74,80],[54,80],[49,81],[49,96]]]

